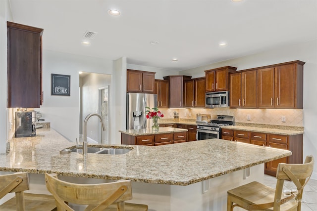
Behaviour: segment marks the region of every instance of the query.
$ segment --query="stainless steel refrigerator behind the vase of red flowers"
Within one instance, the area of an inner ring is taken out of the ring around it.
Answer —
[[[146,106],[158,107],[158,95],[147,93],[127,93],[127,129],[151,128],[152,121],[147,119]]]

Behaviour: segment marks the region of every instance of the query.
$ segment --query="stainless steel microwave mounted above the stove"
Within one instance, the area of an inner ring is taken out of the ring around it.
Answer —
[[[229,107],[229,91],[206,92],[206,108]]]

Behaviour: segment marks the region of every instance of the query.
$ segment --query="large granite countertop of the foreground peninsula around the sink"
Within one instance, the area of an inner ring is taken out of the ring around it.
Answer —
[[[132,149],[123,155],[60,155],[60,150],[75,143],[53,129],[39,129],[37,134],[12,138],[10,152],[0,154],[0,170],[189,185],[291,155],[288,150],[221,139],[162,146],[107,146]]]

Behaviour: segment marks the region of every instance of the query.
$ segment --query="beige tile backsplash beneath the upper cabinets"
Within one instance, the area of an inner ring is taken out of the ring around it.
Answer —
[[[166,118],[173,118],[173,112],[179,113],[179,118],[195,119],[196,114],[230,115],[235,117],[235,122],[255,123],[267,125],[282,125],[303,127],[303,109],[159,109]],[[250,120],[247,116],[250,115]],[[285,122],[282,122],[285,117]]]

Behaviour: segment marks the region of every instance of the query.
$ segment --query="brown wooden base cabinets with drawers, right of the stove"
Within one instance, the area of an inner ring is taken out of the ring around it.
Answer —
[[[303,163],[303,134],[279,135],[221,128],[221,139],[291,151],[291,156],[265,163],[264,173],[268,175],[276,175],[279,163]]]

